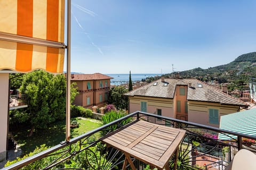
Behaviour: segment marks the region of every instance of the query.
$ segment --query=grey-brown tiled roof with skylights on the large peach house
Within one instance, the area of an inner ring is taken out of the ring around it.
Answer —
[[[161,82],[161,79],[156,80],[138,89],[129,91],[125,95],[172,99],[174,96],[176,86],[185,85],[188,86],[188,100],[246,106],[246,104],[243,103],[242,100],[236,99],[235,97],[225,94],[220,89],[212,87],[196,79],[165,79],[164,81],[165,82]],[[154,83],[157,83],[156,86],[154,86]],[[167,86],[164,86],[164,83],[168,83]],[[190,83],[191,86],[189,87]]]

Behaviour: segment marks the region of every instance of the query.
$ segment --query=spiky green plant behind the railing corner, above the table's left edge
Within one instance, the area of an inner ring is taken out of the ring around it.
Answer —
[[[115,120],[118,120],[119,118],[125,116],[126,113],[124,111],[110,111],[110,112],[107,112],[104,116],[102,116],[102,124],[105,125],[105,124],[108,124],[110,122],[113,122]],[[132,121],[132,118],[127,118],[126,120],[122,121],[120,124],[121,125],[125,125],[127,123],[130,123]],[[102,131],[101,132],[101,135],[105,135],[107,134],[109,131],[114,131],[118,128],[118,124],[114,124],[114,125],[111,125],[109,126],[109,128],[105,131]]]

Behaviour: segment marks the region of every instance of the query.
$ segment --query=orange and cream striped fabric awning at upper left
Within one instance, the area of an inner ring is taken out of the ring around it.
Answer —
[[[65,0],[0,0],[0,70],[62,73]]]

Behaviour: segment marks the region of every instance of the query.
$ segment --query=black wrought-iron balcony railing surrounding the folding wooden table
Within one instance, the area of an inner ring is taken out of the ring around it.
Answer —
[[[238,150],[246,148],[256,152],[256,137],[137,111],[4,169],[122,169],[123,153],[107,147],[99,138],[121,128],[129,119],[157,120],[162,124],[186,130],[186,136],[179,145],[178,169],[225,169]],[[230,139],[219,140],[219,133]],[[132,160],[137,169],[147,166],[135,158]],[[174,157],[171,157],[171,169],[173,165]],[[127,169],[129,168],[127,165]]]

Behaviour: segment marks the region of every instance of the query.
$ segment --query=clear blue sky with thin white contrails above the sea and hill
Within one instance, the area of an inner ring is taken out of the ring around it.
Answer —
[[[254,0],[72,0],[71,72],[165,74],[228,64],[256,51],[255,8]]]

